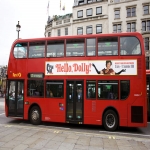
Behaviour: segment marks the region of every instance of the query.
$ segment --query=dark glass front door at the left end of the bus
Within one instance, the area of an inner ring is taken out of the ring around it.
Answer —
[[[23,117],[24,109],[24,81],[8,80],[6,104],[8,106],[8,116]]]

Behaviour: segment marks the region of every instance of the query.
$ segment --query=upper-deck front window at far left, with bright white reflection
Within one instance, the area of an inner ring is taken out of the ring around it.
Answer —
[[[18,43],[14,47],[15,58],[27,58],[27,43]]]

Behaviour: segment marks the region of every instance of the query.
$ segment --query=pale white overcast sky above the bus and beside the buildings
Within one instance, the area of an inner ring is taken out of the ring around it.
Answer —
[[[49,15],[72,13],[74,0],[49,0]],[[62,7],[65,5],[65,11]],[[48,0],[0,0],[0,66],[8,65],[12,43],[17,39],[16,25],[20,21],[19,37],[44,37]]]

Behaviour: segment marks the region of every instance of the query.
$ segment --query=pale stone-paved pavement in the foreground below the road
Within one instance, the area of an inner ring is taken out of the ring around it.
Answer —
[[[149,137],[81,133],[45,126],[0,124],[0,150],[150,150]]]

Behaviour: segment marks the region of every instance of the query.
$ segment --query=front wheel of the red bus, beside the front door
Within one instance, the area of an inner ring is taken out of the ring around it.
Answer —
[[[38,106],[33,106],[30,110],[30,122],[34,125],[41,123],[41,112]]]

